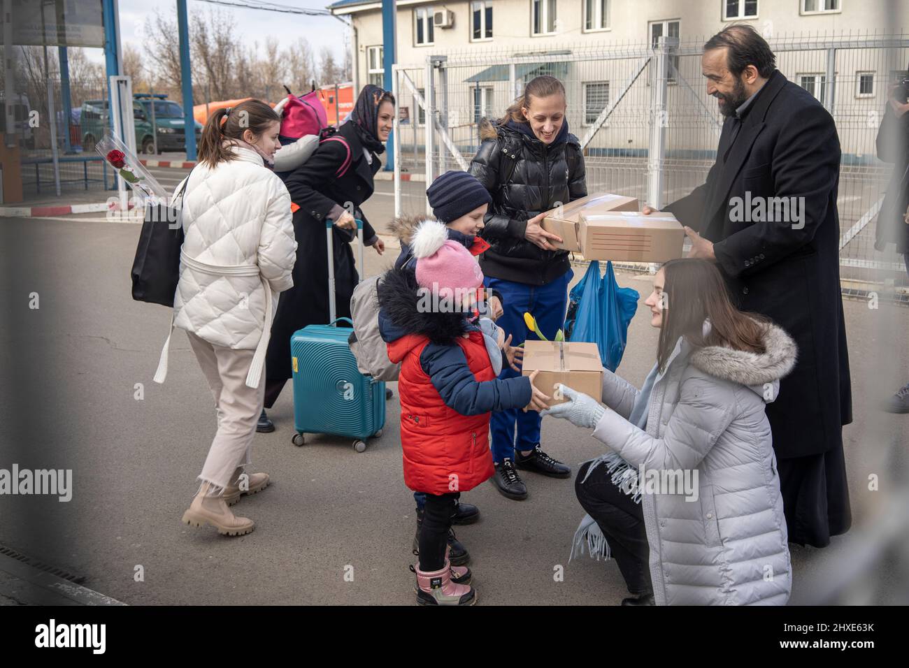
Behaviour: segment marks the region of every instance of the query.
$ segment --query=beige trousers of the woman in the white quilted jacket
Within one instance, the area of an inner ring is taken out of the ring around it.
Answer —
[[[209,344],[192,332],[186,336],[215,395],[217,416],[217,432],[199,480],[225,487],[235,469],[251,461],[255,424],[265,401],[265,383],[260,381],[256,389],[246,385],[255,350]]]

